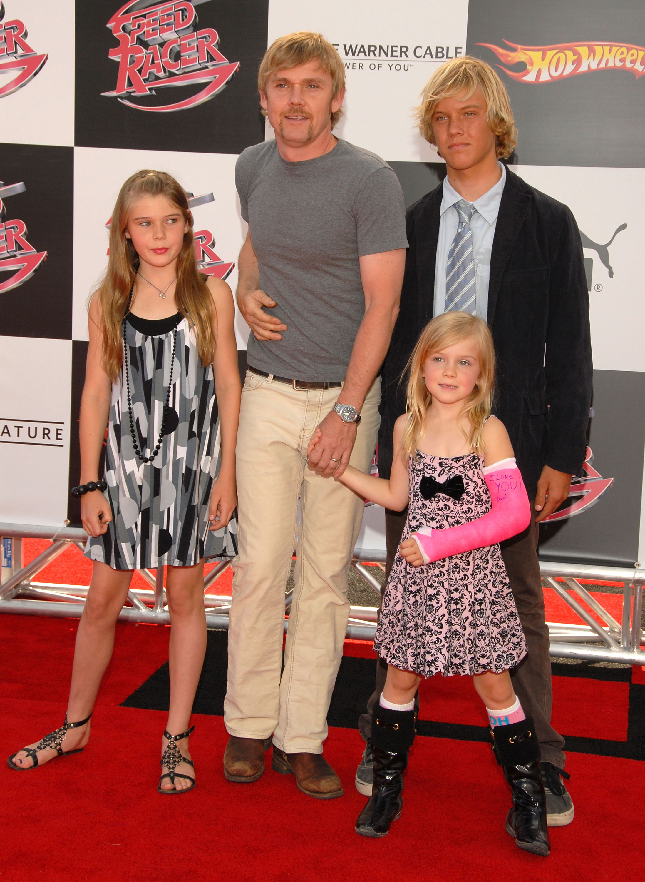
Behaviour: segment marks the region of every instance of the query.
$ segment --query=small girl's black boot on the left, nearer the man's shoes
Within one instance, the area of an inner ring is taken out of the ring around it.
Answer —
[[[414,740],[414,711],[393,711],[375,707],[372,715],[374,783],[372,796],[356,821],[361,836],[387,836],[392,821],[403,807],[403,774]]]

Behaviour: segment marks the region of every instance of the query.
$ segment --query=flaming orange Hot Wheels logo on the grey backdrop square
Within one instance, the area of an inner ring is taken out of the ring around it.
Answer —
[[[520,46],[504,41],[515,51],[502,49],[490,43],[478,43],[492,49],[505,64],[525,64],[523,71],[508,71],[509,77],[519,83],[552,83],[555,80],[576,77],[589,71],[632,71],[636,78],[645,73],[645,49],[630,43],[582,42],[559,43],[556,46]]]

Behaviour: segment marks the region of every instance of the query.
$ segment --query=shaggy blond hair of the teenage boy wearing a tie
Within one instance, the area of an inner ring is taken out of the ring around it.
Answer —
[[[498,159],[508,159],[517,146],[517,130],[508,92],[490,64],[473,56],[453,58],[434,72],[421,93],[416,108],[421,135],[436,146],[433,130],[434,108],[444,98],[465,93],[471,98],[479,89],[486,99],[486,122],[496,136],[495,152]]]

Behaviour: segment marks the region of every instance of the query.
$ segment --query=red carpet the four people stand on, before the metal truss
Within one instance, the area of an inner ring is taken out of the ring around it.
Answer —
[[[75,631],[73,620],[0,616],[3,760],[63,721]],[[119,624],[88,748],[29,774],[2,766],[3,882],[613,882],[641,865],[634,805],[645,766],[634,759],[569,753],[575,821],[552,831],[546,859],[523,853],[504,832],[508,790],[500,770],[486,744],[465,740],[417,738],[404,815],[384,840],[353,832],[364,798],[353,787],[362,743],[352,729],[330,729],[325,756],[345,796],[323,802],[301,794],[291,776],[273,773],[270,754],[256,784],[225,781],[223,721],[196,714],[191,751],[198,786],[181,799],[159,796],[166,715],[118,705],[166,660],[167,638],[167,628]],[[365,645],[348,643],[346,649],[360,664],[369,663],[361,661],[371,655]],[[560,696],[556,687],[558,712],[576,726],[571,734],[593,731],[619,740],[625,714],[615,700],[629,684],[562,679],[576,686]],[[439,678],[434,690],[423,696],[424,711],[434,707],[428,716],[482,724],[469,682]],[[441,696],[441,690],[448,691]],[[612,714],[602,714],[607,701],[616,714],[613,729]]]

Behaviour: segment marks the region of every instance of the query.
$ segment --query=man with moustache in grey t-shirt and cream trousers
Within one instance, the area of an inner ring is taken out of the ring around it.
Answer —
[[[237,443],[224,772],[256,781],[273,736],[273,768],[330,799],[343,789],[323,740],[364,504],[323,477],[350,461],[367,471],[374,455],[377,374],[404,273],[404,202],[387,163],[331,133],[345,68],[320,34],[275,41],[258,85],[275,141],[249,147],[235,169],[248,221],[237,302],[252,333]]]

